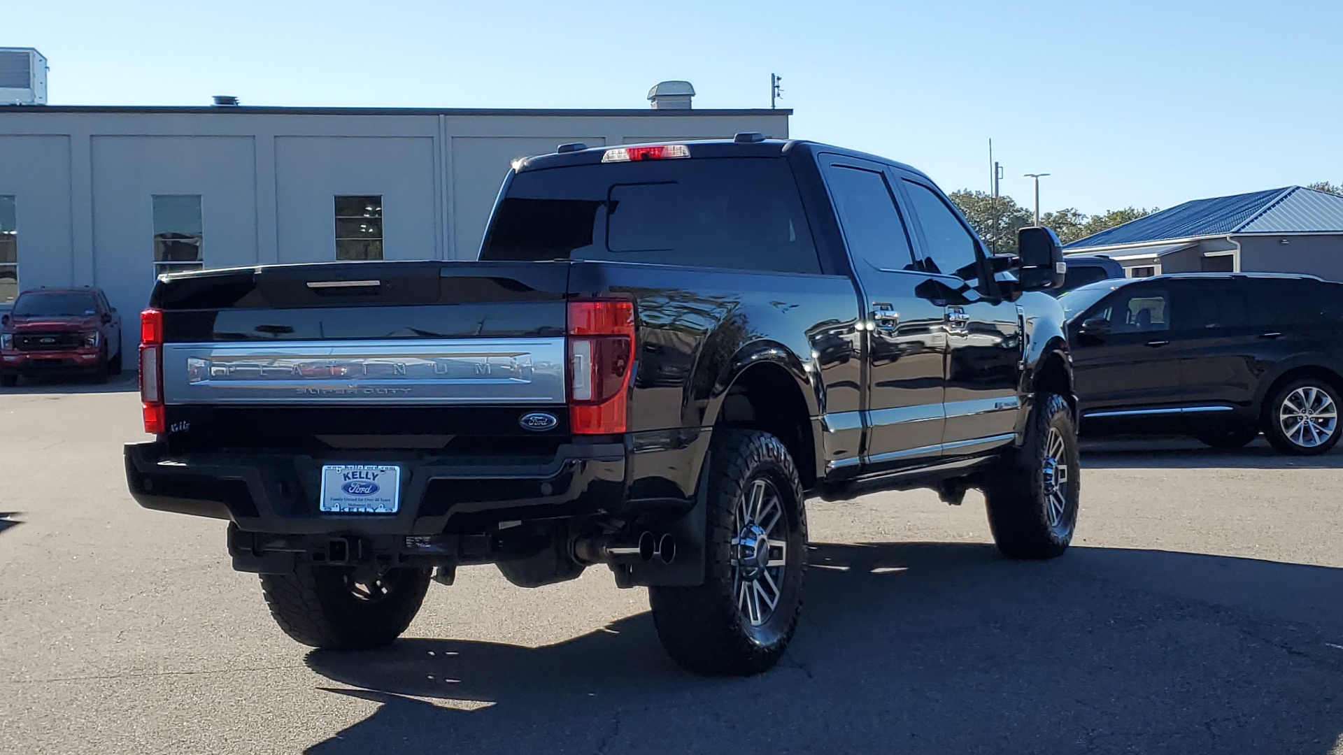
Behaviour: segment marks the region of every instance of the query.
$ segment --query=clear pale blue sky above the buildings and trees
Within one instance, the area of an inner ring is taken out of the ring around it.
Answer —
[[[1343,181],[1338,0],[4,4],[54,105],[767,107],[947,191],[1100,212]]]

